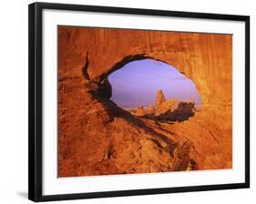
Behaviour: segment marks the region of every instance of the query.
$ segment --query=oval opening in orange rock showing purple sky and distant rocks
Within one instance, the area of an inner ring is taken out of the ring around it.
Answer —
[[[194,116],[200,94],[187,76],[152,58],[123,64],[108,76],[118,107],[138,117],[183,121]]]

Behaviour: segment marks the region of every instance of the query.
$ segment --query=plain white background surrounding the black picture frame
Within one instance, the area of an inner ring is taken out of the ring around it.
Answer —
[[[3,1],[0,6],[0,203],[27,200],[27,5],[33,1]],[[251,15],[251,189],[217,190],[69,200],[55,203],[253,203],[255,171],[255,4],[253,0],[55,0],[56,3],[169,9],[178,11]],[[255,201],[254,201],[255,202]]]

